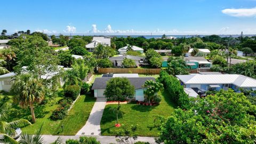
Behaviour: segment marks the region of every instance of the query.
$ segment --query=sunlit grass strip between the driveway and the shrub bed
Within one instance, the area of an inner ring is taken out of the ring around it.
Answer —
[[[56,129],[56,135],[75,135],[86,123],[90,116],[95,98],[92,95],[81,95],[75,102],[68,115]],[[63,132],[61,125],[63,124]]]

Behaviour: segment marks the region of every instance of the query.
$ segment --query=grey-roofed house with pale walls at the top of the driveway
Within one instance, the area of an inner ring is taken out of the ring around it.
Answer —
[[[114,77],[114,75],[113,75],[113,77]],[[127,79],[129,79],[130,83],[135,87],[135,94],[134,94],[135,100],[143,101],[144,100],[143,90],[145,89],[143,87],[143,85],[145,84],[145,82],[147,80],[156,81],[156,79],[154,77],[129,77],[126,75],[127,74],[120,74],[119,77],[127,77]],[[95,81],[92,85],[92,90],[94,90],[95,98],[105,97],[104,91],[106,89],[107,82],[111,78],[112,78],[111,76],[95,78]]]

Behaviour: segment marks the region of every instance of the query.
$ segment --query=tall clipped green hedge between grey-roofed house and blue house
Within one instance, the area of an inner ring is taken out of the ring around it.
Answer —
[[[169,75],[165,70],[162,70],[158,81],[164,85],[174,102],[177,103],[180,108],[189,108],[188,95],[184,92],[183,86],[180,85],[180,81],[176,77]]]

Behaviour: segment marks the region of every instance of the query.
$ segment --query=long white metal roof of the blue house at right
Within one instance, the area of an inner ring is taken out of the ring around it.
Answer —
[[[177,75],[185,84],[234,84],[239,87],[256,87],[256,79],[236,74],[226,75]]]

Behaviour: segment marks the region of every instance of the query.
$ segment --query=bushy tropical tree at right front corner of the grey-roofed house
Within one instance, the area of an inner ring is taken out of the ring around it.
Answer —
[[[163,84],[154,82],[152,80],[147,80],[143,86],[146,88],[146,90],[144,90],[143,93],[145,101],[148,103],[153,102],[154,99],[156,99],[156,97],[161,97],[157,93],[164,89]]]

